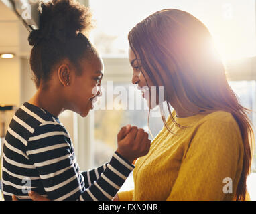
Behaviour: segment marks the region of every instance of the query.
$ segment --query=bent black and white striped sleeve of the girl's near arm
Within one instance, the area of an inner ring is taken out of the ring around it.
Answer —
[[[27,141],[27,156],[51,200],[111,200],[134,166],[113,154],[109,163],[80,172],[69,134],[58,123],[44,122]]]

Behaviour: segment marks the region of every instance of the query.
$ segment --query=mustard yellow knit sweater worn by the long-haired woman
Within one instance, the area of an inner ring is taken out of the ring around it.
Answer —
[[[233,116],[224,111],[172,115],[190,128],[179,128],[168,116],[177,135],[162,128],[149,153],[135,163],[134,190],[119,192],[119,199],[233,200],[243,167],[243,141]]]

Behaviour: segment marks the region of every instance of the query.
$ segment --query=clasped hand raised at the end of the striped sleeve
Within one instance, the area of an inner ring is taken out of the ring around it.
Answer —
[[[147,132],[142,128],[124,126],[117,134],[117,153],[133,163],[133,160],[149,152],[150,143]]]

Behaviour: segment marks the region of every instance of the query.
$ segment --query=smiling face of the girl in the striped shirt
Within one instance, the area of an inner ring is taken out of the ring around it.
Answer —
[[[98,96],[101,96],[104,66],[98,56],[93,56],[90,60],[82,60],[80,64],[82,74],[74,75],[74,82],[70,84],[68,90],[68,109],[85,117],[94,107]]]

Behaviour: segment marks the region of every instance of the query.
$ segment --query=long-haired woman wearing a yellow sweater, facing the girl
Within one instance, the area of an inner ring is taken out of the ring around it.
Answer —
[[[135,163],[134,189],[115,200],[247,199],[253,130],[208,29],[185,11],[164,9],[138,23],[128,39],[133,84],[164,86],[174,111],[167,120],[162,114],[162,130]],[[158,96],[155,104],[143,97],[163,112]]]

